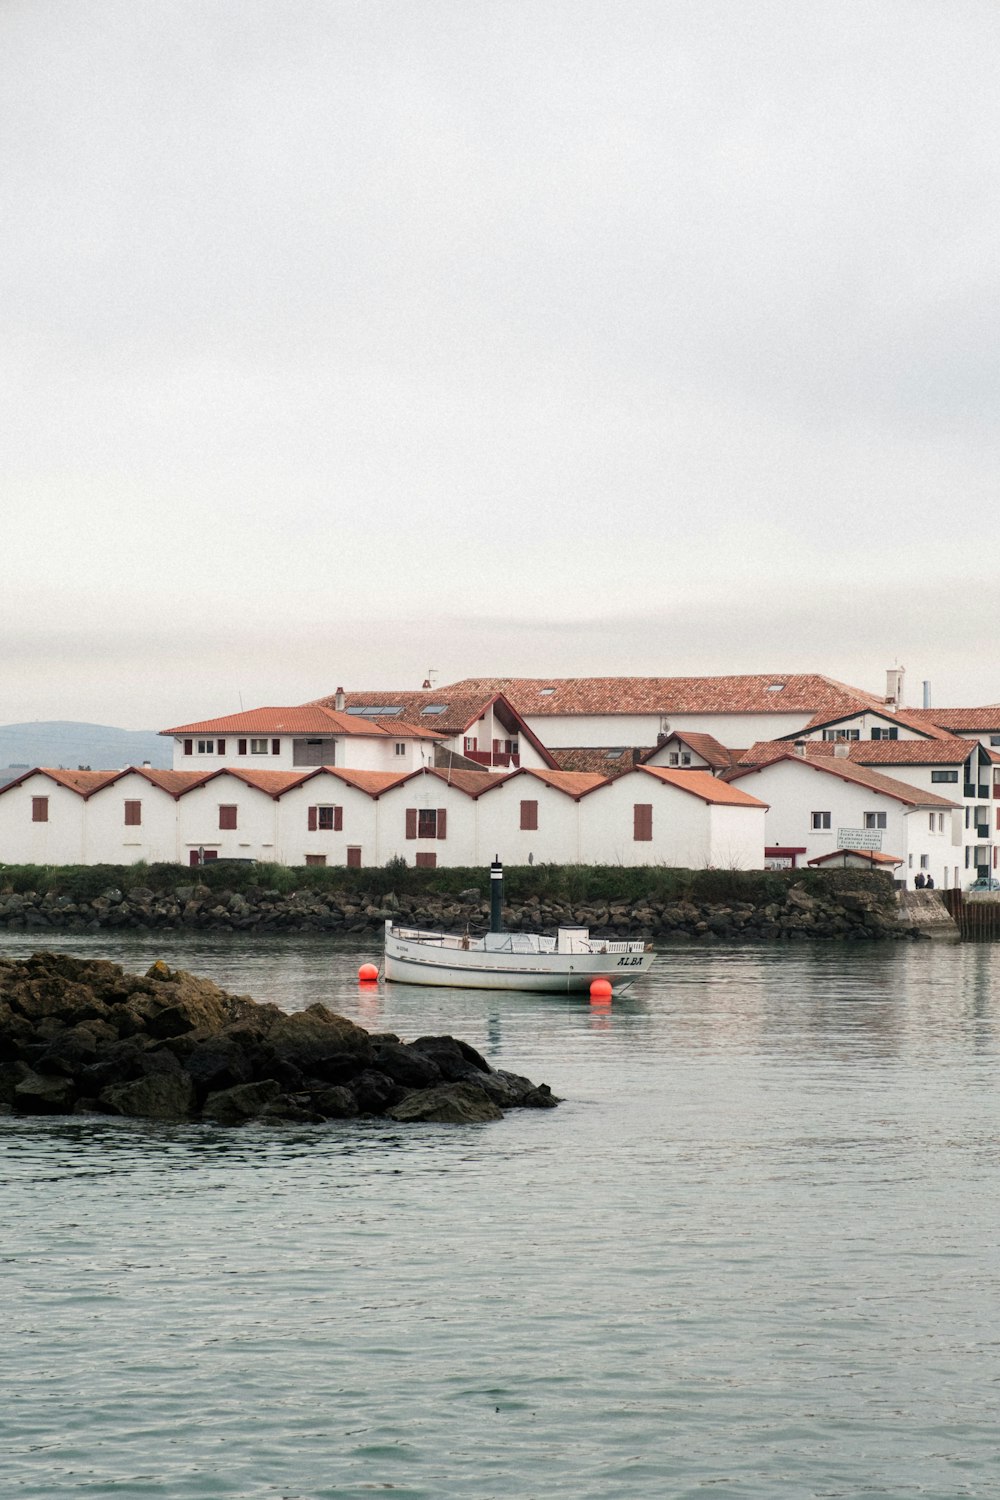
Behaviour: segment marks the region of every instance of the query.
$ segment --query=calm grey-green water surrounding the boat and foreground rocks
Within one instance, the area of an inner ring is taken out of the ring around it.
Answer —
[[[1000,1496],[997,950],[685,946],[595,1010],[363,993],[378,954],[319,940],[58,946],[567,1102],[0,1119],[4,1500]]]

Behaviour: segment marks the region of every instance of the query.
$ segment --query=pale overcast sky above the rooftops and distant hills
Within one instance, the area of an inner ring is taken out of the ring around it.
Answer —
[[[996,0],[4,0],[0,723],[1000,700]]]

